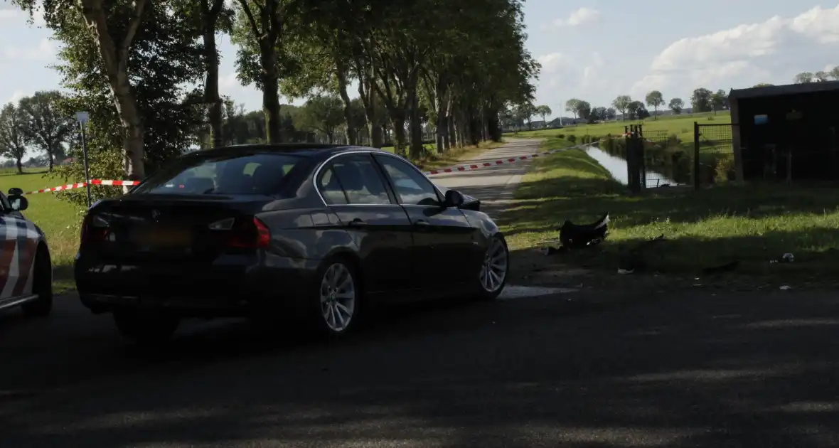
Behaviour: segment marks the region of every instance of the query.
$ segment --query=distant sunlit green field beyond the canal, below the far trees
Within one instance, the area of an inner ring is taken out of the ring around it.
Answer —
[[[667,115],[658,117],[657,120],[649,117],[642,121],[626,121],[626,122],[605,122],[598,124],[580,124],[576,126],[569,126],[560,129],[542,129],[535,131],[523,131],[520,133],[506,133],[508,137],[519,138],[547,138],[555,137],[559,134],[575,135],[582,137],[583,135],[603,136],[607,134],[617,135],[623,133],[624,126],[630,124],[644,125],[644,132],[648,131],[666,131],[667,135],[675,134],[680,140],[685,142],[693,142],[693,122],[700,124],[725,124],[731,122],[731,114],[727,111],[694,113],[689,115]]]

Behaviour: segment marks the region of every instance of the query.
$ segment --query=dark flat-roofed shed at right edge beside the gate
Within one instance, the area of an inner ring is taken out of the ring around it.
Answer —
[[[839,178],[839,81],[732,89],[728,102],[738,178]]]

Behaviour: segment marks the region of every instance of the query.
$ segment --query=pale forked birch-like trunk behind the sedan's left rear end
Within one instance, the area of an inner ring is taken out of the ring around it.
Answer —
[[[107,26],[107,14],[102,8],[102,0],[80,0],[82,13],[89,28],[94,29],[99,55],[105,67],[108,84],[114,104],[122,123],[122,162],[128,180],[142,180],[145,177],[143,166],[143,121],[140,118],[137,98],[134,96],[131,81],[128,79],[128,52],[140,23],[148,0],[137,0],[134,15],[128,23],[125,38],[119,47],[114,43]]]

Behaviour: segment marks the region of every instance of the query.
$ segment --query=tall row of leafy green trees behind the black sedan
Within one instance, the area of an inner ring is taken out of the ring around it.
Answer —
[[[531,101],[539,72],[524,49],[522,0],[13,3],[30,14],[42,10],[62,44],[56,70],[70,94],[58,110],[62,117],[90,112],[96,175],[141,178],[193,146],[198,128],[210,130],[207,146],[229,139],[220,33],[238,46],[238,79],[263,92],[269,143],[293,139],[284,132],[280,94],[312,98],[330,112],[340,99],[351,144],[364,130],[381,145],[387,123],[397,150],[419,156],[424,117],[440,151],[500,138],[498,112]],[[352,81],[361,107],[353,107]]]

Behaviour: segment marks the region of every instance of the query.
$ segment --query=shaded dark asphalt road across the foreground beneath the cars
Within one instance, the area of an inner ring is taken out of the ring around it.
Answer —
[[[586,291],[143,350],[65,296],[0,315],[0,446],[836,446],[837,329],[834,293]]]

